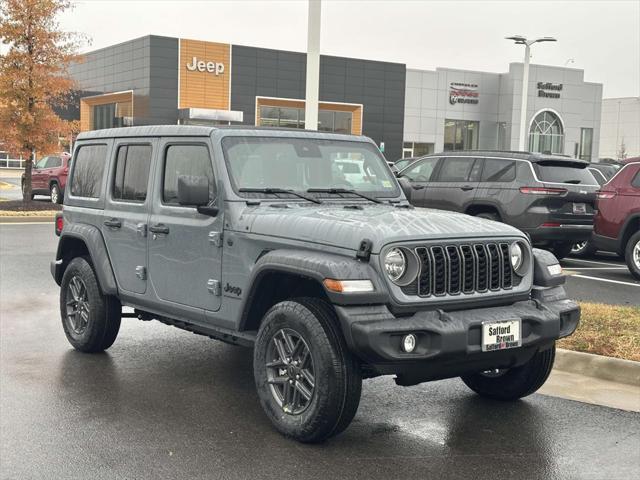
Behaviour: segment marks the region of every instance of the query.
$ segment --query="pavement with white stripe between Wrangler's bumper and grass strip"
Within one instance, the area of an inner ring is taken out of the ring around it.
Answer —
[[[560,264],[569,276],[565,288],[571,298],[611,305],[640,305],[640,281],[613,254],[594,258],[565,258]]]

